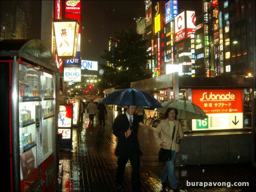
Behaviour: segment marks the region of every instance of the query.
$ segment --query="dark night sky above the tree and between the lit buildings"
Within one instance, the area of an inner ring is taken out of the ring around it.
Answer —
[[[167,1],[168,2],[168,1]],[[180,9],[194,10],[195,1],[178,1]],[[197,1],[198,2],[198,1]],[[81,58],[82,60],[98,61],[104,49],[108,49],[108,38],[112,18],[115,17],[126,24],[136,25],[133,18],[145,17],[145,2],[140,1],[81,1]],[[112,31],[111,31],[112,30]]]

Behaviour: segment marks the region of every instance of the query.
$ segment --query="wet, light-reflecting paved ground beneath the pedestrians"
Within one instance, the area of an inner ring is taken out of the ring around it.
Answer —
[[[58,191],[117,191],[114,154],[117,138],[112,134],[112,124],[108,117],[102,129],[96,121],[93,127],[88,127],[88,122],[86,113],[83,127],[73,128],[73,149],[60,151]],[[162,188],[160,181],[165,163],[152,160],[157,158],[147,149],[141,151],[142,191],[172,191],[168,181],[166,188]],[[123,191],[132,191],[131,171],[128,161]],[[254,191],[256,188],[255,168],[248,164],[180,166],[175,171],[179,191]]]

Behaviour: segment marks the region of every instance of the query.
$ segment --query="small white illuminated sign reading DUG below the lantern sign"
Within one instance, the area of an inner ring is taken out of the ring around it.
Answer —
[[[64,67],[64,82],[81,82],[80,67]]]

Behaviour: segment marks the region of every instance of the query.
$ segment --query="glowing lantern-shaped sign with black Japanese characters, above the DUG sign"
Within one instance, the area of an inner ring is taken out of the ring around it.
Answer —
[[[61,59],[73,59],[76,56],[80,23],[77,19],[54,21],[57,55]]]

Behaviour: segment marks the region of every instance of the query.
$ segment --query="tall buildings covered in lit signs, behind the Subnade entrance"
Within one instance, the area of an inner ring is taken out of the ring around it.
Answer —
[[[152,77],[176,70],[190,77],[255,76],[254,1],[196,1],[187,10],[182,4],[145,1]]]

